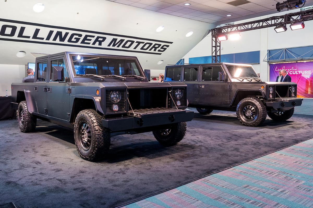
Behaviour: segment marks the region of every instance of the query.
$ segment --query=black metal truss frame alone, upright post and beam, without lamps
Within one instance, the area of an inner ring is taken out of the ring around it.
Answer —
[[[244,32],[257,30],[267,27],[276,27],[280,25],[292,24],[296,22],[304,22],[313,20],[313,9],[303,10],[300,12],[289,13],[281,16],[269,17],[261,20],[240,23],[236,25],[223,26],[212,29],[212,63],[221,60],[221,42],[217,37],[220,35],[228,35],[233,32]]]

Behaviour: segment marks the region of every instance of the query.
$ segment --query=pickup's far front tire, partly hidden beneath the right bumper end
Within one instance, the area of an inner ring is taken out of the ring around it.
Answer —
[[[186,122],[165,125],[163,128],[153,131],[156,140],[163,146],[169,147],[180,142],[186,134]]]

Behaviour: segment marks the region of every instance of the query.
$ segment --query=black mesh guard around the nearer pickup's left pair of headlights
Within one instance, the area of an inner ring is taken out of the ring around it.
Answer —
[[[110,99],[110,94],[113,91],[117,91],[121,94],[120,102],[116,103],[118,106],[117,111],[113,111],[113,103]],[[126,112],[126,89],[105,89],[105,114],[116,114],[116,113],[125,113]]]

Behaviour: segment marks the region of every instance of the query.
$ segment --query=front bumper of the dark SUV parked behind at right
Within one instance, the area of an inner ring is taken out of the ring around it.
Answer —
[[[266,107],[278,110],[288,110],[302,104],[302,98],[276,98],[274,101],[265,102]]]

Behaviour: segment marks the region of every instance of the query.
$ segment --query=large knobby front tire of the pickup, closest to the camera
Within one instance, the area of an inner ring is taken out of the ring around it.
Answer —
[[[88,138],[82,136],[84,131]],[[86,139],[85,142],[83,138]],[[74,139],[80,157],[88,161],[103,158],[110,149],[110,131],[102,126],[101,116],[92,109],[82,110],[77,114],[74,123]]]

